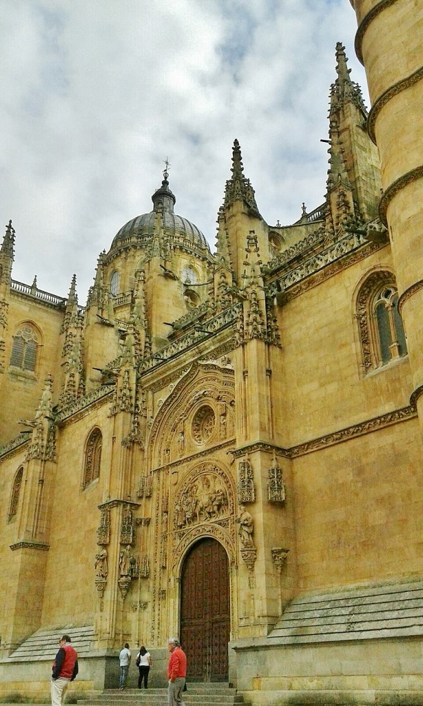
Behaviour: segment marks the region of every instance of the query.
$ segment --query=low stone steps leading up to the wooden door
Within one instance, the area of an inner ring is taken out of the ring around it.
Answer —
[[[185,706],[231,706],[243,704],[242,695],[228,683],[188,682],[188,690],[183,693]],[[167,706],[167,689],[107,689],[87,700],[78,700],[83,706]]]

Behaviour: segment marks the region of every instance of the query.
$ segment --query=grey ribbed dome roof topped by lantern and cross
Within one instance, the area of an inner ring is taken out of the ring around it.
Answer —
[[[161,187],[152,196],[154,210],[150,211],[150,213],[142,213],[142,215],[125,223],[116,233],[111,244],[112,249],[118,245],[118,241],[123,241],[132,236],[137,238],[145,237],[146,240],[150,240],[154,236],[157,219],[161,218],[166,234],[174,235],[176,238],[181,237],[210,251],[207,240],[197,226],[187,218],[173,213],[173,205],[176,202],[176,198],[169,189],[167,176],[167,173],[165,173]]]

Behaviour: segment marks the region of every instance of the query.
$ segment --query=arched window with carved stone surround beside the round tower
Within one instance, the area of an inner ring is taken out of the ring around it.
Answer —
[[[357,297],[364,373],[407,354],[403,321],[398,312],[398,292],[392,273],[372,273]]]

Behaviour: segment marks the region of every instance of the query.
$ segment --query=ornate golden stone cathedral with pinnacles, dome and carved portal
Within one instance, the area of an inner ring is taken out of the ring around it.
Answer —
[[[383,44],[412,4],[355,3],[363,54],[373,23]],[[162,686],[176,634],[192,681],[254,704],[417,703],[423,268],[397,240],[405,215],[410,249],[421,230],[390,191],[388,100],[367,114],[338,44],[324,203],[268,225],[235,140],[216,253],[164,172],[99,255],[86,306],[75,277],[67,299],[13,280],[9,223],[0,695],[47,693],[66,630],[79,691],[116,686],[126,641]]]

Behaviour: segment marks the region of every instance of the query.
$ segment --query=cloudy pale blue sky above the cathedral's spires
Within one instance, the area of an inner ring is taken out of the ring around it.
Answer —
[[[66,296],[76,273],[81,304],[166,157],[176,213],[214,250],[234,138],[266,222],[322,203],[337,41],[368,104],[349,0],[0,0],[0,28],[12,276]]]

